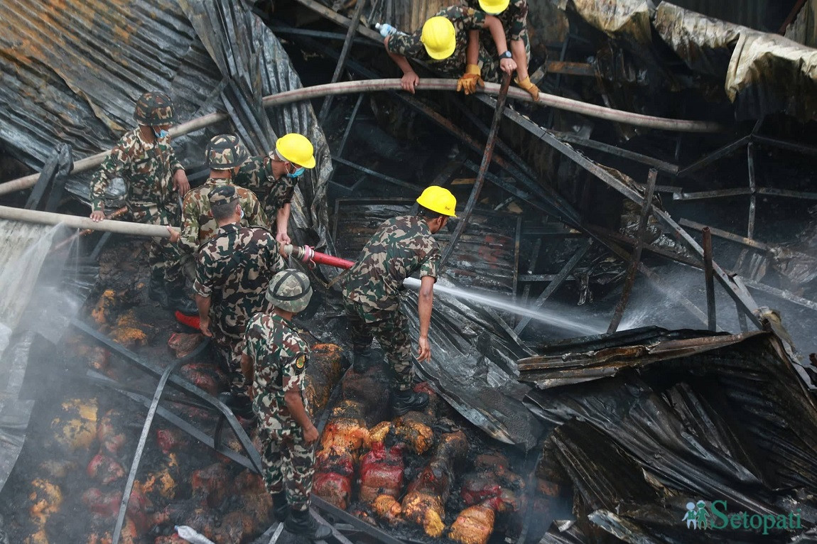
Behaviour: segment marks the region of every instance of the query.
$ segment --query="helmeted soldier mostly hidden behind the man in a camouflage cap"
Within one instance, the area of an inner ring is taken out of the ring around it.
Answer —
[[[209,198],[209,194],[217,187],[230,185],[238,194],[243,212],[242,226],[269,227],[266,214],[261,209],[261,203],[258,202],[256,195],[251,190],[231,183],[247,156],[247,149],[235,136],[221,134],[213,136],[210,140],[204,154],[210,168],[210,176],[203,185],[185,195],[181,212],[181,234],[180,237],[172,237],[174,240],[178,238],[179,247],[185,254],[194,255],[199,246],[211,239],[218,229],[210,210]]]

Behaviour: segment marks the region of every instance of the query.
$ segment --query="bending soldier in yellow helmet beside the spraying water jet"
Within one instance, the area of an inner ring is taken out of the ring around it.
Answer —
[[[371,364],[370,345],[376,337],[395,374],[391,408],[396,416],[422,409],[428,403],[426,393],[412,391],[414,365],[408,320],[400,311],[400,292],[404,280],[419,272],[417,359],[429,360],[428,329],[440,262],[440,247],[433,234],[448,223],[449,217],[454,217],[457,199],[449,190],[431,185],[417,198],[417,203],[420,209],[416,216],[394,217],[380,225],[342,280],[355,372],[365,372]]]

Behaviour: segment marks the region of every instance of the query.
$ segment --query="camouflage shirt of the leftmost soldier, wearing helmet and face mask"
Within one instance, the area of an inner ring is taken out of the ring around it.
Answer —
[[[127,207],[136,221],[142,221],[150,207],[173,207],[172,176],[181,168],[169,137],[148,143],[142,140],[138,127],[126,132],[92,178],[92,211],[102,211],[105,189],[114,177],[125,181]]]

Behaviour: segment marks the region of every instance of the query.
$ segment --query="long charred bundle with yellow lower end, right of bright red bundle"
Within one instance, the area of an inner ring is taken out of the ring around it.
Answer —
[[[431,461],[409,486],[401,511],[404,519],[422,525],[430,537],[443,533],[444,504],[451,493],[454,467],[462,462],[468,448],[462,430],[447,433],[437,444]]]

